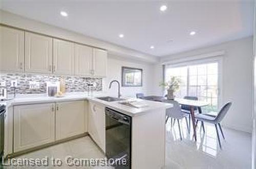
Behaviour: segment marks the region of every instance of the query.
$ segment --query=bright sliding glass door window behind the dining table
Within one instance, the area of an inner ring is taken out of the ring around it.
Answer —
[[[217,111],[218,108],[218,62],[169,67],[165,69],[165,81],[176,76],[181,79],[177,98],[186,95],[197,96],[200,101],[208,102],[205,111]]]

